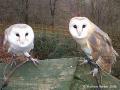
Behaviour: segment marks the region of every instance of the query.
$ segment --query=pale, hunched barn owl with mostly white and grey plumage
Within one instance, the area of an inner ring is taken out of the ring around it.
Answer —
[[[14,24],[8,27],[4,33],[3,45],[13,56],[24,55],[34,64],[38,62],[29,54],[34,48],[34,32],[27,24]]]

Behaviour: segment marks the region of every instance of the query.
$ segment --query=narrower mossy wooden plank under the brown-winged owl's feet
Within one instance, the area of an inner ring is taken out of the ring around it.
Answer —
[[[88,64],[78,65],[71,90],[98,90],[95,78],[89,74],[90,71]],[[101,90],[120,90],[120,80],[103,72],[100,87]]]

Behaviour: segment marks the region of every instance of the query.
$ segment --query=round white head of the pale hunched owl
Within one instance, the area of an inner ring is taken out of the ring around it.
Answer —
[[[5,36],[10,45],[27,47],[34,41],[33,29],[27,24],[14,24],[6,29]]]

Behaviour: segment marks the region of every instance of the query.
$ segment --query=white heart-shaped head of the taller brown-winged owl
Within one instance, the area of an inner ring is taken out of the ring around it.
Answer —
[[[69,23],[69,31],[74,38],[86,38],[90,28],[91,21],[86,17],[73,17]]]

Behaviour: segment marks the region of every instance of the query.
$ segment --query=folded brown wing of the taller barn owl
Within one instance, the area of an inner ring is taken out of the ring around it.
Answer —
[[[92,48],[92,57],[98,66],[110,73],[118,54],[113,49],[109,36],[98,29],[90,35],[88,41]]]

